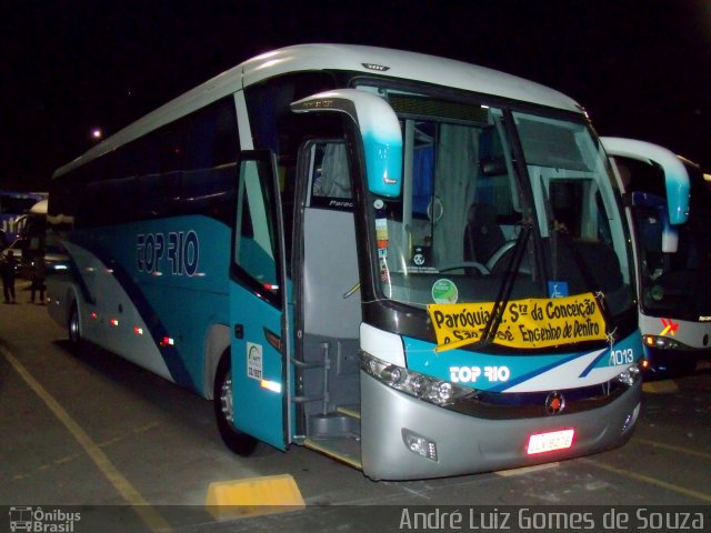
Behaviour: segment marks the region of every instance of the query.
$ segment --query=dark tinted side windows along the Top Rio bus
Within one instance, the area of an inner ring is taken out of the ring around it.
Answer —
[[[238,151],[230,95],[54,180],[50,214],[77,227],[180,214],[229,224]]]

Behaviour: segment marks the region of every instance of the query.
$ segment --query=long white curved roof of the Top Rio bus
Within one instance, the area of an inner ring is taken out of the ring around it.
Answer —
[[[84,154],[59,168],[58,178],[242,88],[287,72],[348,70],[495,94],[581,112],[574,100],[539,83],[452,59],[356,44],[297,44],[266,52],[229,69],[148,113]]]

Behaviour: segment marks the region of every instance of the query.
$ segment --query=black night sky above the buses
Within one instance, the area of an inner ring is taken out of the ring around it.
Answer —
[[[241,61],[303,42],[459,59],[558,89],[600,134],[711,170],[711,0],[6,0],[0,189],[53,170]]]

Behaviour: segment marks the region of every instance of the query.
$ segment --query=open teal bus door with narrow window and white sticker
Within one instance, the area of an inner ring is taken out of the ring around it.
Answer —
[[[230,265],[234,426],[289,444],[289,316],[283,222],[273,153],[239,159]]]

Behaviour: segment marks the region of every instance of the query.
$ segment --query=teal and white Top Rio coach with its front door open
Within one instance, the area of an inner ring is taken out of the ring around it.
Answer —
[[[570,98],[418,53],[264,53],[53,175],[50,313],[371,479],[584,455],[640,410],[621,194]]]

